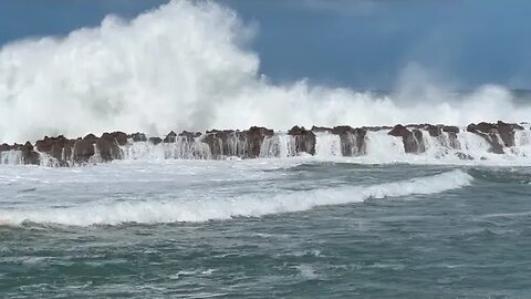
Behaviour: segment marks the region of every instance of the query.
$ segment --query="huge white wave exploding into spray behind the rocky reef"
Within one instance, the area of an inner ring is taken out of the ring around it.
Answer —
[[[531,115],[496,85],[458,95],[424,83],[412,91],[406,80],[395,94],[376,95],[306,80],[272,84],[249,48],[253,34],[219,3],[171,1],[66,37],[12,42],[0,50],[0,142],[256,124],[465,125]]]

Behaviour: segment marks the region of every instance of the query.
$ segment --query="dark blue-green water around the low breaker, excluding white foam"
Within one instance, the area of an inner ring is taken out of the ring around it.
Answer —
[[[291,192],[342,189],[407,182],[456,168],[473,178],[469,185],[261,217],[3,225],[0,297],[531,297],[529,167],[304,163],[252,168],[249,173],[263,177],[238,184],[249,187],[262,179],[264,185],[254,193],[266,194],[267,186]],[[143,184],[150,188],[149,182]],[[204,184],[209,192],[209,182]],[[210,192],[231,184],[236,183],[212,185]],[[64,196],[72,194],[64,190]]]

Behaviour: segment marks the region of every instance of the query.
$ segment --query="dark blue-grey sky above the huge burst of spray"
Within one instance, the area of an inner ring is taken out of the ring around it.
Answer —
[[[134,17],[165,0],[2,0],[0,44]],[[531,87],[528,0],[220,0],[257,25],[252,44],[272,81],[393,89],[423,70],[456,89]]]

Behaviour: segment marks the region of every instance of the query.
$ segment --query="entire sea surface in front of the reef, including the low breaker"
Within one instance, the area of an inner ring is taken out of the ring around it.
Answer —
[[[348,163],[347,163],[348,162]],[[527,298],[529,167],[0,167],[6,298]]]

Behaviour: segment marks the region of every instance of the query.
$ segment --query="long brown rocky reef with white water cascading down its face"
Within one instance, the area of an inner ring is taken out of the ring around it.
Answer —
[[[138,158],[146,153],[154,154],[149,151],[155,150],[149,148],[162,148],[160,154],[156,156],[160,158],[222,159],[315,155],[322,136],[329,136],[334,143],[331,146],[337,147],[332,151],[337,151],[337,155],[342,156],[366,155],[367,141],[377,136],[391,136],[392,142],[400,143],[405,154],[420,155],[435,143],[441,153],[451,152],[458,158],[472,159],[472,156],[465,153],[467,146],[461,144],[460,134],[479,137],[476,141],[486,143],[488,153],[501,155],[517,145],[517,133],[524,130],[529,127],[499,121],[469,124],[462,128],[441,124],[397,124],[377,127],[341,125],[311,128],[295,125],[284,133],[252,126],[243,131],[211,130],[205,133],[184,131],[177,134],[171,131],[166,136],[147,136],[139,132],[132,134],[112,132],[101,136],[88,134],[80,138],[60,135],[44,136],[34,144],[30,142],[1,144],[0,164],[80,166]]]

